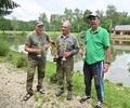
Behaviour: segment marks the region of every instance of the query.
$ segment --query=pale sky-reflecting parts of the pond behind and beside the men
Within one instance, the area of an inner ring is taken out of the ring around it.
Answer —
[[[24,45],[17,48],[18,52],[25,52]],[[130,52],[126,52],[121,49],[113,52],[113,62],[109,66],[108,71],[104,78],[114,83],[121,83],[123,86],[130,86]],[[53,62],[51,51],[48,51],[47,60]],[[83,60],[75,63],[74,70],[82,71]]]

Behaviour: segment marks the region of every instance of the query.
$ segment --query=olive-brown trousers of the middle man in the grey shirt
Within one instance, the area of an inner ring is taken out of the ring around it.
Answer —
[[[66,59],[65,62],[62,60],[57,62],[56,79],[57,79],[58,89],[64,90],[64,87],[67,86],[68,91],[73,91],[73,69],[74,69],[73,57]]]

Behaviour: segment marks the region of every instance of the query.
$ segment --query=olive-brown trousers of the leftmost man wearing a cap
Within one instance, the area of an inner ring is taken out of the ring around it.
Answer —
[[[29,58],[28,59],[28,70],[27,70],[27,81],[26,81],[27,93],[32,93],[32,81],[34,81],[36,68],[38,71],[37,89],[42,87],[42,81],[43,81],[44,73],[46,73],[46,60],[40,62],[40,60],[34,60],[34,59]]]

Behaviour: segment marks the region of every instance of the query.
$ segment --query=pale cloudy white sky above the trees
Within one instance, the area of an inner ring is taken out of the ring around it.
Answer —
[[[41,13],[46,13],[48,17],[51,14],[63,14],[65,8],[86,9],[95,12],[96,10],[105,11],[108,4],[114,4],[118,12],[128,12],[130,15],[130,0],[13,0],[21,6],[13,10],[6,18],[16,17],[21,21],[38,19]]]

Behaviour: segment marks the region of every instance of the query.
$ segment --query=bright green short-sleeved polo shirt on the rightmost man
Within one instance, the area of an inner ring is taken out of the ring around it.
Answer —
[[[94,32],[90,28],[87,30],[84,43],[87,49],[84,60],[88,64],[104,60],[105,49],[109,46],[109,33],[102,27],[99,27]]]

